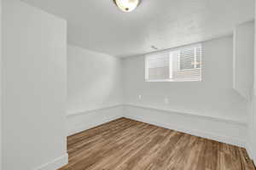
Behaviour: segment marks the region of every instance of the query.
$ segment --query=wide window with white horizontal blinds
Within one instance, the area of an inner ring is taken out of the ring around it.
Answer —
[[[201,81],[201,44],[148,54],[145,79],[148,82]]]

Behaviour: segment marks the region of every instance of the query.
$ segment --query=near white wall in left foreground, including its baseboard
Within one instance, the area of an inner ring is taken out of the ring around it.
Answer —
[[[67,163],[67,23],[3,0],[3,169]]]

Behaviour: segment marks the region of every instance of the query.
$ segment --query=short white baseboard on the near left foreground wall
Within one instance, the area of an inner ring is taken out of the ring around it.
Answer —
[[[44,165],[35,168],[35,170],[56,170],[59,169],[60,167],[67,165],[67,163],[68,154],[66,153],[65,155],[60,156],[53,161],[49,161],[48,163],[45,163]]]

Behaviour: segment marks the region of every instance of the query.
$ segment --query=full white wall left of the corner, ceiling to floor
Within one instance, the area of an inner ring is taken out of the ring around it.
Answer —
[[[121,59],[68,46],[68,134],[113,120],[117,117],[117,112],[121,116],[120,111],[115,109],[122,104],[122,96]],[[113,111],[109,111],[110,108]],[[106,113],[102,111],[104,109],[107,109]]]

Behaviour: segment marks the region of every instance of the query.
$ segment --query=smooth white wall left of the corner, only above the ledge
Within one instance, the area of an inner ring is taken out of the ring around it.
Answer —
[[[67,115],[122,104],[121,59],[69,45]]]

